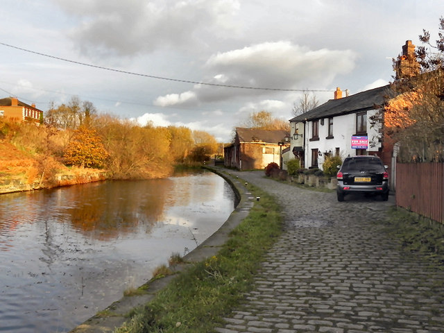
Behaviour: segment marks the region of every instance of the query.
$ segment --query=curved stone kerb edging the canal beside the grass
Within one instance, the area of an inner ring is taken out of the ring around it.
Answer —
[[[152,278],[148,282],[142,284],[146,288],[146,294],[137,296],[123,296],[120,300],[113,302],[103,311],[99,311],[84,323],[78,325],[69,333],[106,333],[113,332],[115,328],[121,327],[123,323],[128,321],[128,313],[137,307],[142,307],[146,303],[155,298],[157,293],[167,287],[167,285],[176,278],[176,273],[185,271],[189,266],[196,262],[201,262],[213,255],[216,255],[223,244],[228,241],[231,230],[237,227],[241,221],[250,213],[250,209],[254,205],[254,198],[248,196],[248,189],[240,178],[230,173],[229,169],[219,167],[205,167],[205,169],[216,173],[225,179],[232,187],[234,194],[237,196],[239,203],[233,212],[228,216],[221,227],[216,230],[210,237],[205,239],[194,250],[185,255],[183,258],[185,263],[169,266],[173,275],[163,278]],[[141,287],[142,287],[141,286]]]

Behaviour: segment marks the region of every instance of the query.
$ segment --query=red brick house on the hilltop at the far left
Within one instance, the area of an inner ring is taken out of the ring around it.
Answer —
[[[28,105],[16,97],[7,97],[0,99],[0,117],[40,123],[40,119],[43,119],[43,111],[35,108],[35,104]]]

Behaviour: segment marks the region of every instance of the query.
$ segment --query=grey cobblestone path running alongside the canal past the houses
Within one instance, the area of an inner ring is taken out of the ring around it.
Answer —
[[[444,274],[402,252],[381,227],[394,205],[345,198],[230,171],[273,194],[285,231],[268,252],[255,289],[219,333],[444,332]]]

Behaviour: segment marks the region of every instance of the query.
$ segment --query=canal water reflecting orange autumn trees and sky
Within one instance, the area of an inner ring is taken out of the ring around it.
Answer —
[[[0,332],[67,332],[234,210],[214,173],[0,196]]]

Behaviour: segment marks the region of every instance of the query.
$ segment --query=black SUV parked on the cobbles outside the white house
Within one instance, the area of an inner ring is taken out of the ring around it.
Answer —
[[[388,200],[388,172],[377,156],[346,157],[336,178],[338,201],[352,192],[380,194]]]

